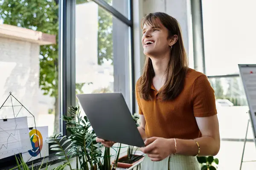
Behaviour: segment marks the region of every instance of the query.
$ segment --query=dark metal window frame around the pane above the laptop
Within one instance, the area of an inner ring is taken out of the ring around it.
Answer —
[[[135,79],[134,79],[134,32],[133,32],[133,0],[128,0],[128,17],[125,17],[113,6],[104,0],[92,0],[113,17],[122,21],[129,27],[130,43],[130,77],[131,77],[131,113],[135,113]],[[60,116],[69,116],[68,108],[76,105],[76,1],[60,0],[59,1],[59,110]],[[61,118],[60,118],[61,119]],[[69,136],[66,130],[65,122],[61,119],[61,130],[63,136]]]

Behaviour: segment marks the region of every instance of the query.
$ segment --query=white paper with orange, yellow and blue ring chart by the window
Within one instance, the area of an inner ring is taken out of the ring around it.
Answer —
[[[45,142],[48,138],[48,126],[36,127],[36,130],[33,127],[29,130],[29,136],[32,150],[22,154],[23,160],[27,162],[40,158],[40,155],[42,158],[49,156],[49,144]]]

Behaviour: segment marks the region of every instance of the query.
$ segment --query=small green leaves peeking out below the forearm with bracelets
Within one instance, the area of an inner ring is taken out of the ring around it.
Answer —
[[[201,170],[216,170],[219,161],[213,156],[197,156],[198,162],[201,164]]]

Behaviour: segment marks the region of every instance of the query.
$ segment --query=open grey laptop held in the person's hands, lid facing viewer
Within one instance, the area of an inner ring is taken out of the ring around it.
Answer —
[[[145,146],[121,93],[77,94],[76,97],[96,136],[131,146]]]

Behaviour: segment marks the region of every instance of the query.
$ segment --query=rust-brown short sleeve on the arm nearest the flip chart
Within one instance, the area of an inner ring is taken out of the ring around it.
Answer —
[[[192,88],[192,104],[195,117],[217,114],[214,90],[205,74],[195,79]]]

